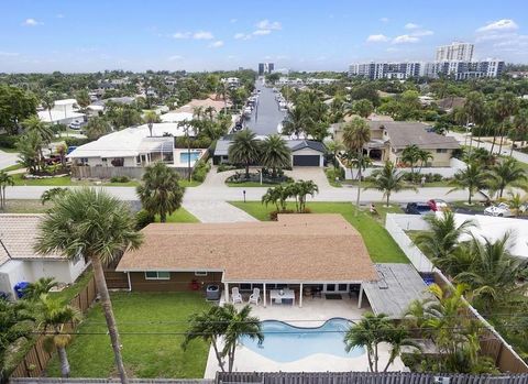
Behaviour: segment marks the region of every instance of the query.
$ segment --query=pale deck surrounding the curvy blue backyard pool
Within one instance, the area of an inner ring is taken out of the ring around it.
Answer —
[[[363,307],[358,308],[358,300],[342,296],[341,300],[329,300],[326,298],[307,298],[302,301],[302,308],[290,305],[274,305],[263,307],[253,306],[252,315],[261,320],[280,320],[296,327],[315,328],[320,327],[331,318],[345,318],[358,321],[361,316],[370,310],[369,301],[363,301]],[[237,305],[241,306],[241,305]],[[380,370],[385,367],[389,356],[389,347],[380,345]],[[356,358],[340,358],[326,353],[316,353],[307,358],[282,363],[264,358],[263,355],[240,345],[237,349],[233,371],[240,372],[326,372],[326,371],[367,371],[369,362],[366,353]],[[398,359],[388,369],[389,371],[404,371],[405,365]],[[209,350],[205,378],[213,378],[219,371],[217,358],[212,348]]]

